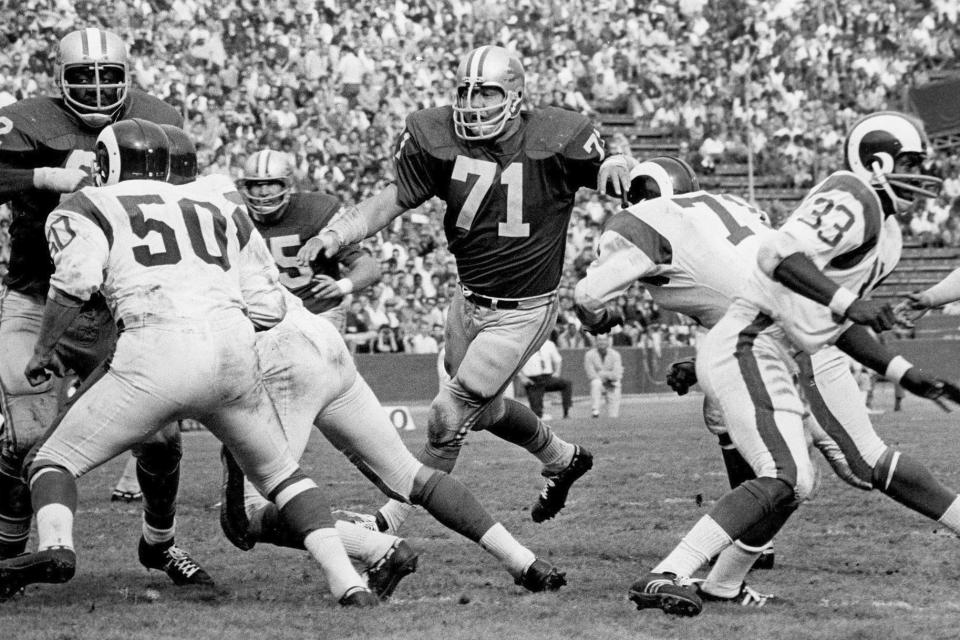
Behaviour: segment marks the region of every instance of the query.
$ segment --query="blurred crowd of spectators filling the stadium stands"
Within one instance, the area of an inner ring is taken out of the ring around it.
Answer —
[[[951,0],[93,0],[4,1],[0,105],[55,94],[56,42],[103,26],[130,43],[135,82],[175,105],[204,172],[238,175],[261,148],[292,153],[300,190],[355,202],[392,179],[392,145],[411,111],[447,104],[462,54],[481,43],[515,49],[527,100],[602,120],[676,133],[700,173],[753,152],[759,175],[808,188],[838,168],[842,132],[858,115],[901,104],[903,92],[957,59]],[[611,147],[627,144],[614,137]],[[907,232],[960,246],[960,158],[938,157],[944,193]],[[560,289],[559,346],[589,346],[572,285],[617,203],[581,192]],[[456,268],[432,201],[367,245],[383,281],[354,297],[347,331],[361,351],[442,346]],[[773,214],[786,213],[787,209]],[[9,246],[0,209],[0,269]],[[615,344],[688,344],[688,321],[642,291],[623,296]],[[386,331],[389,328],[391,331]]]

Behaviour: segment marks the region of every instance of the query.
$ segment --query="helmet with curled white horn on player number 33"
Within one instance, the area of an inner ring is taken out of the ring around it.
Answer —
[[[877,111],[850,127],[843,143],[846,168],[889,199],[887,215],[905,211],[917,196],[935,198],[943,181],[919,171],[929,147],[923,123],[905,113]],[[884,201],[884,197],[880,198]]]

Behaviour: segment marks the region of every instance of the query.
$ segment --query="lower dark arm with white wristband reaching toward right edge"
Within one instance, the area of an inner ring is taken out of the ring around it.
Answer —
[[[853,325],[837,339],[837,347],[887,380],[898,383],[910,393],[943,404],[943,398],[960,405],[960,388],[951,382],[933,378],[901,355],[892,354],[867,329]]]

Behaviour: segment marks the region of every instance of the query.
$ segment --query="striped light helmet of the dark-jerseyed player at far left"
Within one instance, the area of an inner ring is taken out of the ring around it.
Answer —
[[[72,31],[60,40],[53,75],[66,107],[100,129],[117,119],[130,88],[127,47],[103,29]]]

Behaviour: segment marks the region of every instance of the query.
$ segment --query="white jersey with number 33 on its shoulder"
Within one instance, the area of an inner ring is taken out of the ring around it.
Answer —
[[[893,270],[903,248],[896,217],[884,216],[873,187],[849,171],[837,171],[814,187],[776,233],[782,235],[771,238],[775,246],[803,251],[824,275],[860,297]],[[824,305],[775,282],[759,266],[740,297],[773,317],[794,345],[808,353],[850,326]]]

